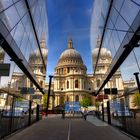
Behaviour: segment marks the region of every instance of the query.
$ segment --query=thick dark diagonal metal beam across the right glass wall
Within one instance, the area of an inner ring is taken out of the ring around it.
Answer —
[[[111,67],[108,70],[107,76],[105,77],[105,80],[101,84],[99,90],[96,92],[96,95],[99,94],[99,92],[102,90],[102,88],[105,86],[105,84],[109,81],[109,79],[113,76],[113,74],[117,71],[117,69],[120,67],[120,65],[124,62],[124,60],[127,58],[127,56],[131,53],[131,51],[134,49],[134,47],[137,46],[139,40],[140,40],[140,12],[137,14],[135,20],[133,21],[131,27],[128,31],[131,31],[133,28],[134,34],[127,32],[118,51],[116,52],[116,55],[114,56]],[[128,37],[130,40],[128,40]]]

